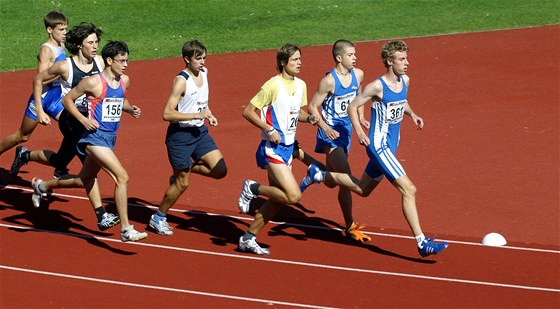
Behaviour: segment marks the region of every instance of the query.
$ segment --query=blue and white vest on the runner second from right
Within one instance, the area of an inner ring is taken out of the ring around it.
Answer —
[[[348,87],[344,87],[340,79],[333,69],[329,71],[334,79],[334,93],[328,95],[321,104],[321,113],[326,124],[334,125],[350,125],[350,117],[348,117],[348,105],[358,95],[358,79],[354,70],[350,71],[352,82]]]

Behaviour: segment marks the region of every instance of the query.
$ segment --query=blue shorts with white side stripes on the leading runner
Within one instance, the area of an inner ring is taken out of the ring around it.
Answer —
[[[395,156],[397,149],[391,149],[387,144],[382,144],[379,149],[375,149],[372,144],[366,148],[369,162],[366,166],[366,173],[371,178],[385,176],[390,182],[406,175],[404,168]]]

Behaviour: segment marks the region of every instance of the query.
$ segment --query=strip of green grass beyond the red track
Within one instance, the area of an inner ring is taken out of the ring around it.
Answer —
[[[192,38],[216,54],[560,23],[560,0],[0,0],[0,71],[36,67],[55,7],[133,60],[178,57]]]

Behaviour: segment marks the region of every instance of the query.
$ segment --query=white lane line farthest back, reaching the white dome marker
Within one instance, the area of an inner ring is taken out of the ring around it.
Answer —
[[[25,187],[5,186],[4,188],[5,189],[11,189],[11,190],[22,190],[22,191],[26,191],[26,192],[33,192],[32,189],[25,188]],[[68,195],[68,194],[62,194],[62,193],[53,193],[52,195],[53,196],[59,196],[59,197],[65,197],[65,198],[88,200],[87,197],[77,196],[77,195]],[[154,206],[154,205],[144,205],[144,204],[130,203],[129,206],[148,207],[150,209],[157,209],[157,206]],[[224,215],[224,214],[199,212],[199,211],[196,211],[196,210],[188,210],[188,209],[171,208],[169,211],[180,212],[180,213],[188,212],[188,213],[194,213],[194,214],[199,214],[199,215],[207,215],[207,216],[223,216],[223,217],[234,218],[234,219],[238,219],[238,220],[253,221],[252,217],[230,216],[230,215]],[[289,225],[289,226],[297,226],[297,227],[310,228],[310,229],[334,230],[334,231],[342,232],[342,229],[334,228],[334,227],[314,226],[314,225],[306,225],[306,224],[298,224],[298,223],[290,223],[290,222],[278,222],[278,221],[269,221],[269,223],[276,224],[276,225]],[[412,236],[404,236],[404,235],[398,235],[398,234],[376,233],[376,232],[368,232],[368,231],[362,231],[362,232],[364,234],[382,236],[382,237],[406,238],[406,239],[413,239],[414,238]],[[448,243],[461,244],[461,245],[467,245],[467,246],[484,246],[483,244],[478,243],[478,242],[467,242],[467,241],[459,241],[459,240],[452,240],[452,239],[440,239],[440,240],[446,241]],[[528,248],[528,247],[501,246],[501,247],[493,247],[493,248],[560,254],[560,250],[549,250],[549,249]]]

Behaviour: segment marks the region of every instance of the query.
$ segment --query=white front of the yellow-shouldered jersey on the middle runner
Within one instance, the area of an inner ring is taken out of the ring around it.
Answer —
[[[293,95],[290,95],[286,87],[282,84],[281,78],[280,76],[273,77],[278,87],[278,95],[274,102],[261,109],[261,119],[278,131],[282,138],[282,144],[291,145],[296,138],[296,129],[305,83],[303,80],[294,77],[296,91]],[[268,140],[268,136],[265,132],[262,133],[262,140]]]

